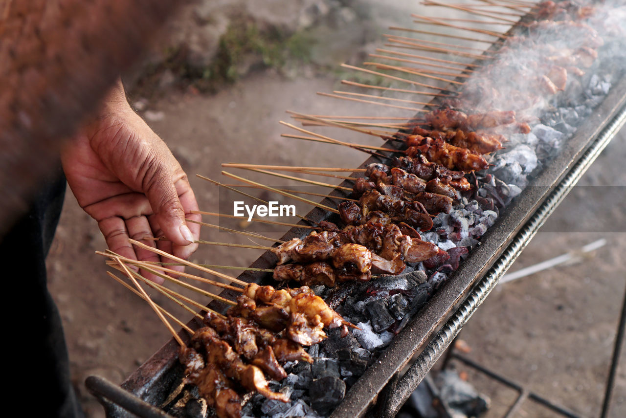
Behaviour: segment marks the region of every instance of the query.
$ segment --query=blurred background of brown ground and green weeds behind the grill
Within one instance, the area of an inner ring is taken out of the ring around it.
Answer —
[[[382,47],[388,26],[409,26],[410,14],[422,9],[404,0],[195,1],[163,29],[145,61],[125,74],[129,100],[180,161],[200,209],[230,213],[232,196],[196,174],[232,183],[220,176],[221,163],[350,168],[366,159],[350,148],[283,138],[280,134],[289,130],[278,121],[292,121],[285,110],[372,115],[371,106],[316,92],[338,89],[348,74],[339,64],[366,61],[368,53]],[[429,8],[429,13],[436,12]],[[341,140],[381,143],[375,137],[331,132]],[[612,141],[511,271],[579,250],[598,238],[607,245],[577,263],[498,285],[460,336],[471,359],[583,416],[598,415],[602,405],[626,286],[625,135]],[[255,180],[292,186],[260,175]],[[300,215],[309,211],[303,203],[296,206]],[[205,222],[218,220],[205,217]],[[286,230],[235,221],[220,225],[274,238]],[[201,238],[265,245],[208,229]],[[63,317],[73,380],[90,418],[104,412],[86,391],[85,378],[98,374],[120,384],[169,339],[150,307],[108,278],[104,260],[94,254],[105,247],[96,223],[68,190],[48,257],[49,288]],[[244,267],[260,252],[205,246],[192,261]],[[188,314],[178,315],[188,320]],[[614,418],[626,416],[623,354],[610,413]],[[487,417],[502,416],[515,400],[515,392],[481,374],[465,370],[463,375],[490,397]],[[557,415],[526,402],[518,416]]]

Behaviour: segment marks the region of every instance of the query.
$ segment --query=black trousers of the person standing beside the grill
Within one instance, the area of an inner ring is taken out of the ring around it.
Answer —
[[[4,407],[15,405],[18,416],[82,416],[69,377],[61,317],[46,286],[46,255],[61,214],[65,184],[60,169],[51,173],[29,212],[0,242],[2,293],[14,312],[4,323],[9,329],[15,327],[4,338],[9,349],[5,361],[9,370],[14,368],[3,379],[11,388]],[[7,269],[14,272],[9,277]]]

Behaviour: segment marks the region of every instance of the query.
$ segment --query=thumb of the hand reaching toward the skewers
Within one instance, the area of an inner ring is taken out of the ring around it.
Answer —
[[[193,243],[192,232],[185,223],[185,210],[169,170],[157,169],[145,193],[165,236],[182,247]]]

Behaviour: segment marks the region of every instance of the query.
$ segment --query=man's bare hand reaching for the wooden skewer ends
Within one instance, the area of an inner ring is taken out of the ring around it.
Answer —
[[[168,241],[144,243],[181,258],[197,249],[193,241],[200,225],[185,222],[200,220],[200,215],[190,214],[198,203],[187,175],[163,140],[130,108],[121,83],[98,118],[68,143],[61,160],[76,200],[98,221],[111,251],[137,260],[171,262],[128,243],[129,237],[163,236]]]

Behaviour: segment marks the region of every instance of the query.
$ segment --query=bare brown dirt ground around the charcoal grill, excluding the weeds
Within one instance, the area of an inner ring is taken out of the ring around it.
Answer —
[[[354,53],[354,45],[352,49],[349,46],[343,51],[344,58]],[[219,204],[220,197],[225,204],[224,196],[195,174],[218,179],[223,162],[353,167],[364,160],[364,155],[349,148],[280,137],[289,132],[277,123],[289,121],[285,110],[336,115],[349,110],[356,114],[351,103],[315,94],[337,86],[333,74],[321,76],[303,67],[285,77],[270,69],[213,95],[193,89],[168,94],[148,102],[143,115],[187,171],[201,210],[225,212],[229,208]],[[366,105],[362,109],[364,113],[369,110]],[[379,142],[365,135],[329,132],[338,139]],[[461,333],[472,349],[469,357],[582,416],[599,414],[626,286],[625,139],[626,131],[622,131],[580,182],[588,187],[570,193],[511,271],[599,237],[607,238],[607,245],[581,263],[499,285]],[[298,213],[306,212],[306,206],[298,205]],[[274,237],[280,233],[257,230]],[[247,238],[208,229],[201,238],[250,243]],[[71,373],[90,418],[103,417],[104,412],[86,391],[85,378],[96,374],[119,384],[168,339],[167,330],[146,303],[108,278],[103,259],[94,253],[103,249],[105,242],[95,222],[68,191],[48,258],[49,288],[63,317]],[[206,246],[192,261],[247,266],[258,254],[258,250]],[[188,319],[188,314],[178,315]],[[479,374],[470,372],[469,380],[491,397],[488,417],[501,416],[515,399],[511,390]],[[556,415],[527,402],[517,416]],[[626,359],[622,353],[610,417],[624,416]]]

